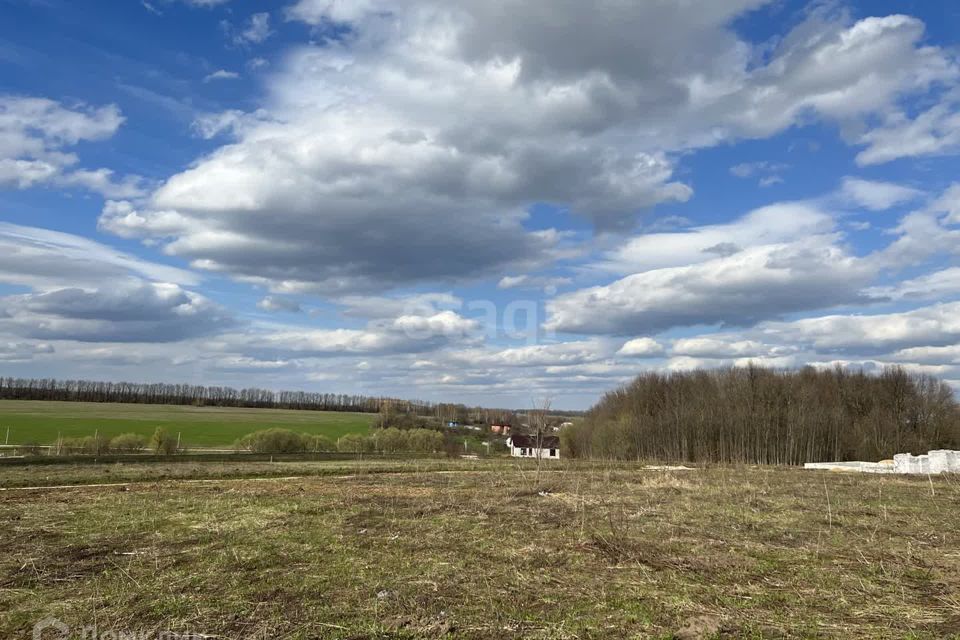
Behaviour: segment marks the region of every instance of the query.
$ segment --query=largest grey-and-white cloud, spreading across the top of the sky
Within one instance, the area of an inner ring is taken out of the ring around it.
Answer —
[[[293,52],[263,117],[102,227],[274,292],[502,276],[556,255],[533,203],[623,229],[691,196],[681,151],[875,115],[954,73],[906,16],[815,12],[757,56],[729,25],[762,0],[696,4],[298,2],[288,19],[346,35]]]

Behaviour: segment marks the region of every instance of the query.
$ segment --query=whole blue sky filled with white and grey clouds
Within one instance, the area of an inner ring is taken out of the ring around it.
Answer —
[[[0,375],[960,391],[960,4],[0,0]]]

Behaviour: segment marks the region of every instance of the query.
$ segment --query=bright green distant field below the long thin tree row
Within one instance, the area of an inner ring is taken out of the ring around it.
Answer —
[[[224,447],[240,436],[269,427],[286,427],[333,439],[346,433],[366,433],[374,415],[332,411],[230,409],[171,405],[100,404],[0,400],[0,444],[10,429],[10,444],[53,444],[64,438],[108,437],[138,433],[149,437],[158,426],[181,433],[185,446]]]

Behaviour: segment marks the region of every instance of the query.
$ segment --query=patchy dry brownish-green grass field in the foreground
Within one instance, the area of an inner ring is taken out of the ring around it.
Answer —
[[[3,491],[0,637],[960,638],[956,479],[562,464]]]

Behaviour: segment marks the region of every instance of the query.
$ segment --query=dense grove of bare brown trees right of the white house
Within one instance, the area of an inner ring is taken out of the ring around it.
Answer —
[[[802,464],[960,448],[950,387],[893,367],[644,373],[561,432],[565,456]]]

